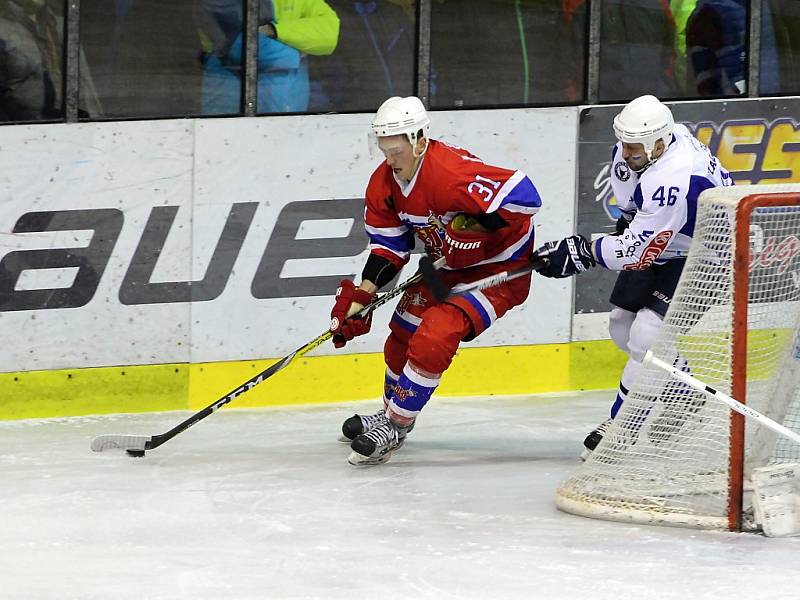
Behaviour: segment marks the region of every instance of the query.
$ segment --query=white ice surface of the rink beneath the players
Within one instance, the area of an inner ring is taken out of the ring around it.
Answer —
[[[367,468],[336,435],[376,403],[226,408],[143,459],[89,442],[188,413],[2,422],[0,598],[797,598],[800,538],[556,510],[610,399],[435,398]]]

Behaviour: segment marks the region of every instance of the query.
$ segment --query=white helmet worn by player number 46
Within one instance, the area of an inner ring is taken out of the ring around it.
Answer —
[[[658,140],[669,145],[675,120],[672,111],[655,96],[634,98],[614,117],[614,134],[620,142],[642,144],[649,162]]]

